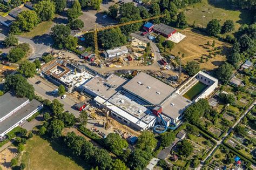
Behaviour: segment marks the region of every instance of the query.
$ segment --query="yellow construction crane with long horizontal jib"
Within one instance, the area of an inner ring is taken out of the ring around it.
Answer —
[[[78,33],[78,36],[82,36],[86,33],[93,33],[94,34],[94,45],[95,45],[95,55],[96,55],[96,60],[99,59],[99,49],[98,49],[98,36],[97,33],[99,31],[103,31],[103,30],[108,30],[108,29],[112,29],[112,28],[117,28],[119,26],[124,26],[124,25],[130,25],[130,24],[135,24],[135,23],[140,23],[140,22],[144,22],[144,21],[149,21],[152,19],[157,19],[157,18],[162,18],[165,17],[166,15],[158,15],[158,16],[154,16],[154,17],[150,17],[150,18],[145,18],[145,19],[140,19],[140,20],[136,20],[136,21],[130,21],[127,23],[121,23],[121,24],[117,24],[117,25],[109,25],[109,26],[105,26],[103,28],[97,28],[97,26],[95,25],[95,29],[93,31],[83,31],[81,33]]]

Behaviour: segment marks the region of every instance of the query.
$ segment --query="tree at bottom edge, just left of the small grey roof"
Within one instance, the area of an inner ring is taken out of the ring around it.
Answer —
[[[131,169],[144,169],[151,160],[152,155],[149,152],[135,149],[129,158],[129,167]]]

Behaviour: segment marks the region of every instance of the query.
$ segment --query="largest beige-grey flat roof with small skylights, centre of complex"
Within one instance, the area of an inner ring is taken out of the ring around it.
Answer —
[[[123,89],[152,105],[159,105],[175,91],[173,87],[144,72],[132,78]]]

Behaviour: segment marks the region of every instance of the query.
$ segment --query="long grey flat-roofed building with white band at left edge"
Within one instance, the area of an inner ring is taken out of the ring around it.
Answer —
[[[43,104],[33,99],[17,98],[10,92],[0,97],[0,138],[41,110]]]

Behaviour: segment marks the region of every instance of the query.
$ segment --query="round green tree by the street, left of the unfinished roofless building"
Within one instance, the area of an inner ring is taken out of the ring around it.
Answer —
[[[19,65],[18,71],[26,78],[34,77],[36,74],[36,65],[35,63],[30,63],[28,60],[25,60]]]

